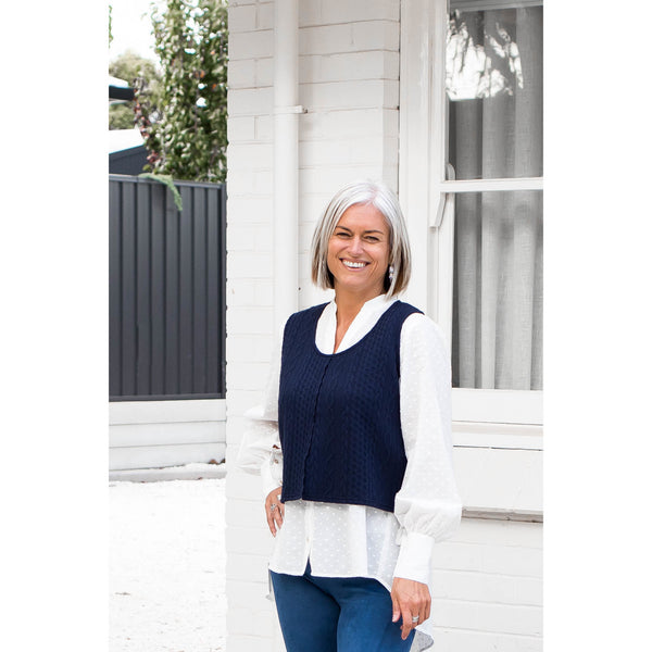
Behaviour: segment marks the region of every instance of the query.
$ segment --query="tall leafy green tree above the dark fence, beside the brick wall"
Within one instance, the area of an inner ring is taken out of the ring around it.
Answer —
[[[155,174],[226,178],[225,0],[167,0],[152,8],[162,70],[158,104],[137,86],[137,123]],[[146,168],[147,170],[147,168]]]

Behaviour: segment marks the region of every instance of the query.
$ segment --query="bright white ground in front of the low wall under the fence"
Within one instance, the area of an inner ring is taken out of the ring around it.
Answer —
[[[223,652],[226,480],[131,473],[109,490],[110,652]]]

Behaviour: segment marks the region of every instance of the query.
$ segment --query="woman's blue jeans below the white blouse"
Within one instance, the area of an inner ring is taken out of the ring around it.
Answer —
[[[269,572],[287,652],[408,652],[391,622],[389,591],[367,577],[314,577]]]

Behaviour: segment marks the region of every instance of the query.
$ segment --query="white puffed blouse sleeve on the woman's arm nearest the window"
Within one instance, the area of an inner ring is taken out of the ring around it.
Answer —
[[[450,355],[439,326],[422,314],[403,323],[400,389],[408,466],[396,497],[394,577],[427,584],[432,544],[455,532],[462,501],[453,473]]]

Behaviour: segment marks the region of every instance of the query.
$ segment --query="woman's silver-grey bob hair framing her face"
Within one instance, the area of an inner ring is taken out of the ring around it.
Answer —
[[[325,290],[335,287],[334,277],[327,263],[328,241],[344,211],[355,204],[372,204],[387,222],[389,227],[389,264],[393,267],[393,274],[391,278],[389,269],[385,274],[385,291],[388,297],[394,297],[405,289],[410,280],[410,242],[408,241],[408,228],[405,227],[399,200],[381,181],[351,181],[335,193],[324,213],[322,213],[313,234],[311,248],[312,280]]]

